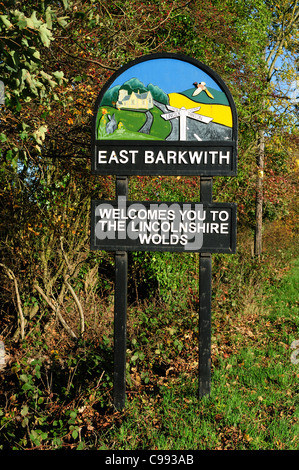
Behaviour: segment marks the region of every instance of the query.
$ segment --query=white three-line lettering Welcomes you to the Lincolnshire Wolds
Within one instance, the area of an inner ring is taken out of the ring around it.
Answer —
[[[98,240],[130,239],[142,244],[186,245],[185,250],[203,246],[205,234],[229,235],[230,211],[203,210],[203,204],[130,203],[124,197],[118,204],[102,203],[95,208],[95,236]],[[213,237],[212,237],[213,239]],[[217,240],[217,237],[213,239]]]

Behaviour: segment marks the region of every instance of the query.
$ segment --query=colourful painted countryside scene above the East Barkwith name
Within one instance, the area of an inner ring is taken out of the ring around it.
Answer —
[[[232,139],[229,100],[216,81],[174,58],[140,62],[117,76],[96,115],[97,140]]]

